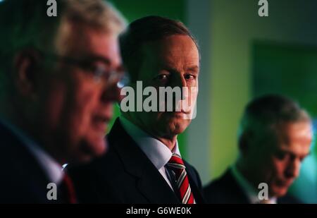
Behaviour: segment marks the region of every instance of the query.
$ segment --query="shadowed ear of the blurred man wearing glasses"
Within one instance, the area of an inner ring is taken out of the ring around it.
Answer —
[[[15,55],[14,80],[19,94],[23,97],[37,97],[40,61],[39,53],[35,50],[25,50]]]

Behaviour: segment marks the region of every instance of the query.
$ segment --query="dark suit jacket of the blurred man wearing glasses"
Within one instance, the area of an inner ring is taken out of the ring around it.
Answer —
[[[44,203],[48,178],[24,143],[0,123],[0,203]]]

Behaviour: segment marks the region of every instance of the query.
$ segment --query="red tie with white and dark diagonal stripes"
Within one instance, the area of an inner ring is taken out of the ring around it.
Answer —
[[[182,204],[194,204],[194,195],[189,186],[188,176],[185,170],[186,167],[182,162],[182,158],[179,155],[173,154],[166,165],[175,173]]]

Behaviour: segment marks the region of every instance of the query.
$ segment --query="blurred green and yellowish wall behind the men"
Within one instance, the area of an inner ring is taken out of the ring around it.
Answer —
[[[280,93],[317,118],[317,1],[112,0],[129,22],[148,15],[181,20],[199,42],[201,74],[197,117],[179,136],[182,156],[204,184],[237,157],[237,128],[249,100]],[[116,116],[118,116],[118,106]],[[317,149],[291,192],[317,203]]]

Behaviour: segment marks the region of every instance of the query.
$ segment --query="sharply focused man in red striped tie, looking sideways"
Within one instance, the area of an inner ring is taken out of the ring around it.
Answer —
[[[182,99],[190,98],[194,104],[199,51],[185,25],[159,16],[140,18],[120,36],[120,49],[134,90],[137,81],[156,90],[193,87],[194,91]],[[182,160],[177,141],[178,134],[189,126],[192,110],[181,107],[180,111],[174,108],[123,112],[108,135],[108,154],[88,166],[70,169],[80,199],[117,203],[203,202],[199,175]]]

